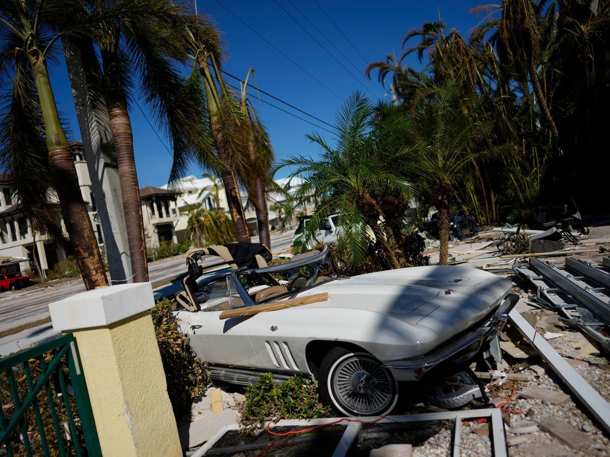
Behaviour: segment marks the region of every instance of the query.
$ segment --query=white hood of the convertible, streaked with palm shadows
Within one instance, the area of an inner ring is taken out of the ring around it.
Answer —
[[[509,280],[475,268],[425,266],[338,279],[307,292],[329,295],[308,306],[384,314],[434,331],[440,343],[481,321],[510,289]]]

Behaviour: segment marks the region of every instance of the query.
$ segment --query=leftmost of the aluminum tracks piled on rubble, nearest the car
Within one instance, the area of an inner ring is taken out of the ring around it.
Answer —
[[[556,311],[562,322],[578,328],[590,338],[595,339],[600,343],[603,352],[610,354],[610,338],[601,333],[605,324],[600,322],[594,314],[533,269],[527,266],[515,266],[514,271],[536,287],[534,301]]]

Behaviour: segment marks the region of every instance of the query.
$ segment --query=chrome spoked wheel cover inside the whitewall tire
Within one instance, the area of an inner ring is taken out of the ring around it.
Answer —
[[[388,370],[366,355],[340,361],[332,374],[332,387],[343,408],[363,416],[386,412],[396,396]]]

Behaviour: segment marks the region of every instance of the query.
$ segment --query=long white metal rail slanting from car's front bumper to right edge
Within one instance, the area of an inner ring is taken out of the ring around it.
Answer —
[[[610,405],[608,402],[548,344],[547,340],[528,324],[517,310],[512,310],[508,317],[523,336],[531,342],[544,360],[547,361],[559,378],[564,381],[573,394],[589,409],[590,413],[600,422],[606,432],[610,433]]]

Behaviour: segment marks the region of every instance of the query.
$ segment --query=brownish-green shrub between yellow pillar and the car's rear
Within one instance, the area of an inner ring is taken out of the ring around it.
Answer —
[[[209,374],[206,364],[193,352],[188,337],[178,328],[171,311],[173,303],[160,300],[151,310],[157,344],[161,353],[167,393],[179,423],[190,422],[191,405],[206,391]]]

